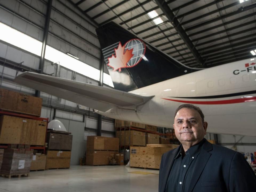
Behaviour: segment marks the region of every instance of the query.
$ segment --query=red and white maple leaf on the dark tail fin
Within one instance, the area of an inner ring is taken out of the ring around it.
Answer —
[[[108,58],[109,64],[107,66],[110,66],[114,69],[114,71],[121,72],[121,68],[127,68],[127,62],[133,57],[133,49],[126,49],[125,46],[122,46],[121,42],[119,42],[119,45],[117,49],[115,49],[115,56],[114,54],[111,56],[111,58]]]

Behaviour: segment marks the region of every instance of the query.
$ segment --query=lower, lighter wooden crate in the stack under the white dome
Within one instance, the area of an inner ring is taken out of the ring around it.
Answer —
[[[47,151],[45,169],[70,167],[71,151]]]

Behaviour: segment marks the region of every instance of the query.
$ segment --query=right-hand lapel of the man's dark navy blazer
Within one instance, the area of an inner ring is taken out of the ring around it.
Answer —
[[[208,151],[210,151],[210,150],[212,150],[212,145],[211,145],[211,143],[209,143],[206,140],[204,145],[202,146],[202,149],[201,149],[198,157],[197,157],[195,171],[190,180],[189,191],[193,191],[195,184],[197,183],[203,169],[205,168],[205,165],[211,156],[211,154],[208,153]]]

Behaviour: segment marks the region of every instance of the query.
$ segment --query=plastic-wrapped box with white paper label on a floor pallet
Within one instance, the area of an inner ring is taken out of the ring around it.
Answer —
[[[33,149],[5,149],[0,174],[29,174]]]

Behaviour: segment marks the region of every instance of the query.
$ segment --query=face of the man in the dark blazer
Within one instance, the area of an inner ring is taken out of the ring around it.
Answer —
[[[200,114],[194,109],[182,108],[174,118],[174,131],[178,140],[198,143],[206,134],[207,122],[202,123]]]

